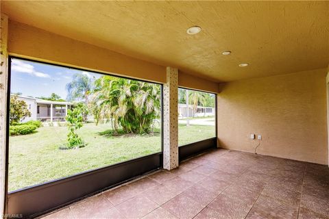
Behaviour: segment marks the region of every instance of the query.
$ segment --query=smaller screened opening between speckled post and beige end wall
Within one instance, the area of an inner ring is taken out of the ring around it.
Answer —
[[[178,88],[178,144],[216,137],[215,94]]]

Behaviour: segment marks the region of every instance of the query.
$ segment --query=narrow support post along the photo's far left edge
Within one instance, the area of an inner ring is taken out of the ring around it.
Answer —
[[[5,214],[5,152],[7,127],[7,88],[8,88],[8,16],[1,13],[0,36],[0,214]]]

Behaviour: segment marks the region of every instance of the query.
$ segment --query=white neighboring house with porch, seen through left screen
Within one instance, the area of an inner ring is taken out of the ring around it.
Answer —
[[[16,96],[10,94],[10,96]],[[31,112],[31,116],[22,120],[27,122],[29,120],[40,120],[41,122],[65,121],[67,110],[71,109],[73,103],[60,101],[47,101],[29,96],[16,96],[17,99],[25,101],[27,109]]]

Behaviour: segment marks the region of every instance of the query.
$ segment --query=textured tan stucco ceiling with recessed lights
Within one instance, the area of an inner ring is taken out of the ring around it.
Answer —
[[[329,1],[1,1],[10,19],[213,81],[329,63]],[[193,25],[202,27],[187,35]],[[221,55],[230,50],[231,55]],[[241,68],[241,62],[250,65]]]

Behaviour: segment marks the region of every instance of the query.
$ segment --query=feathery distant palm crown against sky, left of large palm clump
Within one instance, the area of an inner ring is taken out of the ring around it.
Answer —
[[[93,90],[93,78],[81,73],[73,75],[73,80],[66,84],[68,92],[67,99],[73,101],[74,99],[82,99],[84,103],[88,103],[88,95]]]

